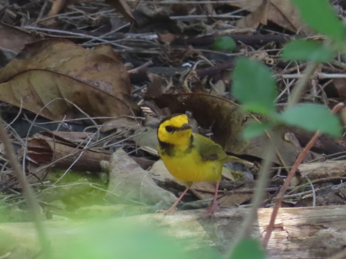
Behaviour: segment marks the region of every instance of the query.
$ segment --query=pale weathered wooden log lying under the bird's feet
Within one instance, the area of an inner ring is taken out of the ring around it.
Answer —
[[[200,219],[203,212],[205,210],[177,211],[169,215],[145,214],[133,216],[131,219],[144,224],[155,224],[169,236],[196,240],[193,247],[190,242],[190,249],[207,245],[222,253],[239,231],[249,209],[220,208],[212,220]],[[272,209],[258,210],[258,218],[252,232],[254,237],[263,236],[271,212]],[[114,222],[119,220],[122,219],[111,219]],[[267,247],[270,258],[327,258],[342,251],[346,244],[345,205],[282,208],[275,223],[276,228]],[[53,248],[58,251],[62,239],[78,238],[85,221],[47,221],[45,226]],[[30,258],[29,256],[39,251],[32,223],[2,223],[0,237],[3,240],[0,242],[2,254],[25,247],[23,258]]]

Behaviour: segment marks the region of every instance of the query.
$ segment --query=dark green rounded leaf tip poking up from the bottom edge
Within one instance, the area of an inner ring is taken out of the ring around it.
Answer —
[[[265,252],[258,240],[253,238],[244,238],[234,249],[230,259],[264,259]]]

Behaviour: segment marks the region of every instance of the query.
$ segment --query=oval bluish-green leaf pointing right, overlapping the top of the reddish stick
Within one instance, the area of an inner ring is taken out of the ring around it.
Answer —
[[[286,124],[307,131],[319,130],[336,137],[341,134],[341,125],[337,116],[325,105],[301,103],[279,114],[278,118]]]

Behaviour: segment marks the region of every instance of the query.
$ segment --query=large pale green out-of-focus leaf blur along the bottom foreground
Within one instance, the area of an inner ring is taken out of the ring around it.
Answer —
[[[210,247],[186,251],[186,240],[178,240],[160,233],[154,226],[143,226],[130,219],[91,223],[78,238],[66,238],[56,259],[221,259]]]

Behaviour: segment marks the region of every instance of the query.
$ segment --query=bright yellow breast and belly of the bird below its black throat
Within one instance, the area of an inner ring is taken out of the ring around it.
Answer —
[[[217,182],[221,180],[223,162],[202,160],[196,148],[190,152],[176,151],[174,156],[162,154],[158,150],[167,170],[180,182]]]

